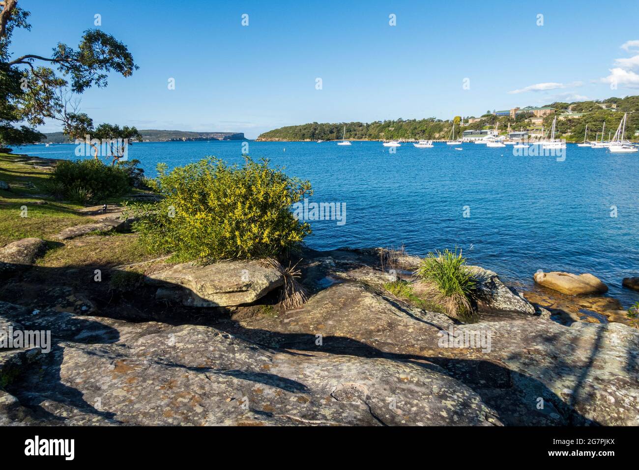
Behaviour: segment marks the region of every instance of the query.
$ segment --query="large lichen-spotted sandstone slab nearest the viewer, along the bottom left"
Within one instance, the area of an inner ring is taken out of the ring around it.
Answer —
[[[26,317],[3,302],[0,313]],[[55,345],[13,374],[0,395],[0,423],[501,424],[477,393],[435,364],[295,354],[200,325],[63,318],[67,327],[77,324],[73,329],[96,324],[114,331],[96,343],[99,337],[59,329],[54,315],[47,324]]]

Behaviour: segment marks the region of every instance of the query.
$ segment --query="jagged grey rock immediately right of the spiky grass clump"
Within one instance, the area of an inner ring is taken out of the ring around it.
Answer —
[[[469,266],[468,269],[477,280],[477,300],[480,308],[535,315],[534,306],[514,288],[507,287],[496,272],[479,266]]]

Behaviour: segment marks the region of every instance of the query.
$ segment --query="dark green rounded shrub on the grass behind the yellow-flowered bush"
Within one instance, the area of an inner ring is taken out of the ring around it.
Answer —
[[[130,191],[129,171],[98,160],[61,161],[50,173],[45,188],[79,203],[102,202]],[[55,194],[54,194],[55,196]]]

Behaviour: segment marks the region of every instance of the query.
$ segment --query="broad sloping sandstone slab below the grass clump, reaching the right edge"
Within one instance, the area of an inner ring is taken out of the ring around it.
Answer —
[[[491,338],[489,350],[442,344],[451,327],[461,337]],[[456,325],[348,282],[303,308],[243,318],[229,331],[271,347],[438,364],[505,425],[639,424],[639,332],[622,324],[567,327],[513,312],[506,320]]]

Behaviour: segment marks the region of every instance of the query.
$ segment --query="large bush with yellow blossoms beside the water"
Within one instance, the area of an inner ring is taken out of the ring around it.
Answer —
[[[162,200],[135,205],[134,224],[151,251],[176,260],[210,262],[276,257],[311,232],[293,217],[291,205],[311,194],[309,182],[289,178],[268,161],[227,166],[213,157],[167,173],[158,165],[151,187]]]

